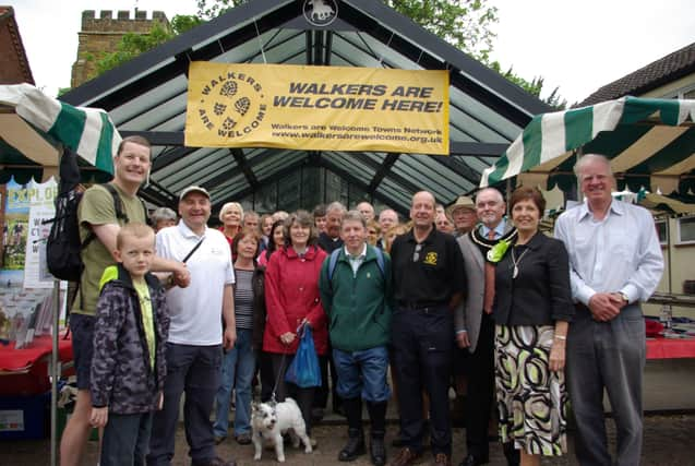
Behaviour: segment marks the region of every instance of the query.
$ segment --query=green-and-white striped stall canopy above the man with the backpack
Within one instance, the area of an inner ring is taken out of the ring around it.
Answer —
[[[0,85],[0,182],[57,175],[63,146],[80,155],[83,181],[107,181],[120,141],[104,110],[73,107],[29,84]]]

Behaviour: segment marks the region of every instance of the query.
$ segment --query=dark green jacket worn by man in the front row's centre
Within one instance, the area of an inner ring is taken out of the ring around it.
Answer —
[[[345,247],[334,254],[334,268],[328,255],[319,280],[333,347],[358,351],[387,345],[393,296],[391,258],[368,244],[367,255],[354,274]]]

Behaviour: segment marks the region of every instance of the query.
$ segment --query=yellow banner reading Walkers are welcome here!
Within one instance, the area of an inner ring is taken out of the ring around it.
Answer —
[[[448,155],[448,72],[192,62],[185,145]]]

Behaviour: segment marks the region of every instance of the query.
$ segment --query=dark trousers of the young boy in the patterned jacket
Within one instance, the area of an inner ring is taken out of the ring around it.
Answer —
[[[144,465],[151,429],[152,413],[117,415],[109,411],[99,465]]]

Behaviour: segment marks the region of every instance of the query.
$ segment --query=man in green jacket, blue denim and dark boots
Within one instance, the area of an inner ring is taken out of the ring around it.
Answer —
[[[384,432],[391,391],[387,344],[391,338],[391,259],[367,244],[367,225],[358,211],[343,217],[345,246],[323,263],[320,289],[328,315],[338,395],[348,420],[348,443],[338,454],[351,462],[363,454],[362,398],[372,422],[372,464],[386,463]]]

